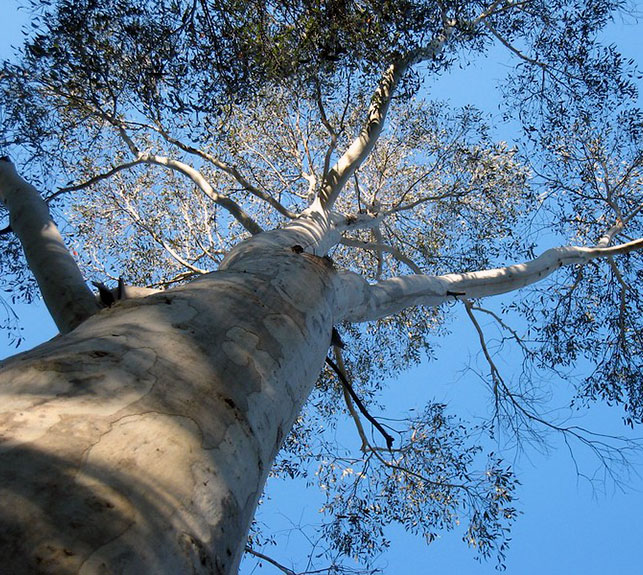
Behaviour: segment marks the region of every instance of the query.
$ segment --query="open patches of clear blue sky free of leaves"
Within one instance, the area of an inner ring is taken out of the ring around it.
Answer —
[[[18,2],[0,0],[0,57],[8,55],[9,45],[21,41],[20,27],[27,18],[16,11]],[[613,36],[613,37],[612,37]],[[619,23],[610,31],[610,40],[622,47],[626,55],[643,65],[643,26],[633,22]],[[493,110],[494,92],[489,77],[499,78],[502,65],[493,69],[468,69],[437,83],[429,89],[440,98],[455,104],[476,103]],[[475,86],[475,89],[471,89]],[[491,105],[490,105],[491,104]],[[1,296],[2,294],[0,294]],[[20,307],[18,313],[25,326],[27,341],[19,351],[28,349],[54,334],[54,328],[42,304],[31,309]],[[440,342],[439,361],[425,363],[391,382],[383,403],[391,411],[404,411],[436,399],[448,403],[463,417],[477,411],[485,402],[481,385],[471,373],[463,373],[468,364],[478,361],[475,334],[460,318],[452,324],[454,334]],[[15,352],[0,335],[0,357]],[[504,358],[511,364],[512,358]],[[400,390],[404,390],[401,393]],[[389,413],[387,413],[389,415]],[[599,431],[623,433],[620,414],[607,408],[596,410],[583,425]],[[643,435],[643,433],[640,433]],[[643,573],[643,481],[632,478],[626,492],[608,487],[601,493],[580,480],[569,454],[553,441],[552,453],[533,450],[521,456],[515,464],[522,486],[518,502],[523,515],[515,524],[512,544],[507,558],[507,573],[516,575],[610,575]],[[512,453],[508,454],[513,457]],[[640,465],[643,458],[638,461]],[[593,463],[579,455],[579,464],[586,470]],[[264,520],[286,528],[289,522],[314,519],[319,500],[315,495],[296,490],[291,485],[275,485],[269,493],[263,512]],[[302,511],[303,510],[303,511]],[[305,512],[311,515],[306,515]],[[289,519],[284,519],[288,516]],[[302,519],[303,518],[303,519]],[[270,551],[275,558],[288,563],[297,556],[296,537],[289,548]],[[494,564],[479,564],[460,541],[459,536],[445,534],[430,546],[420,539],[401,532],[392,533],[391,549],[382,557],[380,566],[391,575],[495,573]],[[244,573],[251,570],[246,567]],[[277,573],[264,565],[258,573]]]

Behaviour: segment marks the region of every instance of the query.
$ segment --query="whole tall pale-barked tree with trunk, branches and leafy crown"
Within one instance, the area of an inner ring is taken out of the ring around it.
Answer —
[[[22,250],[62,335],[2,364],[13,572],[233,573],[258,553],[268,474],[311,460],[338,552],[368,562],[382,525],[431,540],[464,516],[466,540],[502,559],[515,478],[493,454],[476,467],[475,435],[553,429],[618,461],[540,415],[533,378],[506,381],[477,319],[526,374],[589,358],[576,401],[640,421],[642,124],[633,63],[596,41],[617,4],[33,5],[0,72],[16,160],[0,161],[3,278],[32,296]],[[479,112],[414,98],[491,42],[518,61],[522,153]],[[69,182],[43,200],[16,165],[41,189]],[[564,243],[535,257],[542,222]],[[140,287],[105,285],[119,275]],[[522,334],[481,300],[526,286]],[[429,405],[383,428],[360,398],[430,351],[453,303],[480,336],[491,421]],[[313,429],[342,410],[362,443],[351,466]]]

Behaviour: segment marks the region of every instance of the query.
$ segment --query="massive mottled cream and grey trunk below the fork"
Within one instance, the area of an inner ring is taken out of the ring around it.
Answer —
[[[0,371],[0,562],[21,573],[236,573],[323,365],[334,272],[245,247]]]

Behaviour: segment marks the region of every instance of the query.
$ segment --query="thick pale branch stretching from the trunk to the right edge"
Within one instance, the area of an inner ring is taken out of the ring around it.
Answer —
[[[351,272],[338,274],[336,321],[370,321],[407,307],[437,306],[453,298],[481,298],[515,291],[536,283],[558,268],[643,250],[643,239],[613,247],[552,248],[534,260],[495,268],[442,276],[411,275],[369,285]]]

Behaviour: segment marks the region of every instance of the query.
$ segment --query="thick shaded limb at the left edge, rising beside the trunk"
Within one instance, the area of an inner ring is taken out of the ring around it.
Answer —
[[[99,309],[76,261],[49,215],[47,204],[14,165],[0,160],[0,201],[9,210],[38,287],[61,333],[67,333]]]

